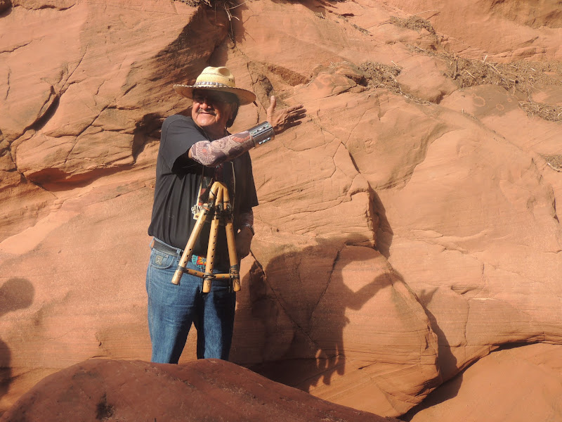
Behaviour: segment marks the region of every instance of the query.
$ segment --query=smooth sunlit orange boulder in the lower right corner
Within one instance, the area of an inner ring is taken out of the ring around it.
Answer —
[[[493,352],[431,393],[407,420],[559,421],[560,352],[560,345],[544,343]]]

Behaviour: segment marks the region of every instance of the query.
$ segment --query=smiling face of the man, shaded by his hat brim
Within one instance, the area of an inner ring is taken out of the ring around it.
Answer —
[[[225,135],[226,122],[233,116],[233,104],[228,102],[231,99],[228,94],[217,91],[193,91],[193,121],[209,136],[221,138]]]

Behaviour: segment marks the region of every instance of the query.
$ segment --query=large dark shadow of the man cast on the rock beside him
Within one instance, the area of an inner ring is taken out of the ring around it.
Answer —
[[[251,317],[263,324],[263,361],[250,368],[306,391],[343,375],[344,330],[348,324],[360,324],[350,321],[346,312],[360,310],[379,290],[391,286],[390,267],[380,271],[382,267],[373,264],[383,261],[377,250],[335,238],[278,255],[266,268],[254,263],[244,285]]]

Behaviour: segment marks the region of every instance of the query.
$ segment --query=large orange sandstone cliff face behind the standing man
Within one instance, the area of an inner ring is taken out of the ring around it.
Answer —
[[[308,110],[251,151],[233,362],[398,416],[501,345],[560,343],[556,5],[0,1],[0,411],[150,359],[159,127],[206,65],[258,96],[234,131],[272,94]]]

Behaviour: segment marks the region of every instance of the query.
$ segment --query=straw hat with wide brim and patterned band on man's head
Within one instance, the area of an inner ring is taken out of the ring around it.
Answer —
[[[204,68],[197,77],[194,85],[174,85],[174,91],[185,97],[193,99],[194,89],[211,89],[213,91],[230,92],[237,96],[240,106],[256,101],[256,95],[247,89],[237,88],[234,75],[227,68]]]

